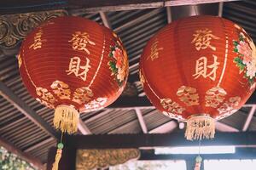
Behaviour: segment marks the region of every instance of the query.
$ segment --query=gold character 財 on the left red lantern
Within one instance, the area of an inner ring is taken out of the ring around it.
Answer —
[[[80,65],[81,59],[79,57],[73,57],[69,62],[69,69],[67,75],[74,74],[76,77],[82,78],[83,81],[86,81],[87,72],[90,69],[90,59],[86,58],[86,65]]]

